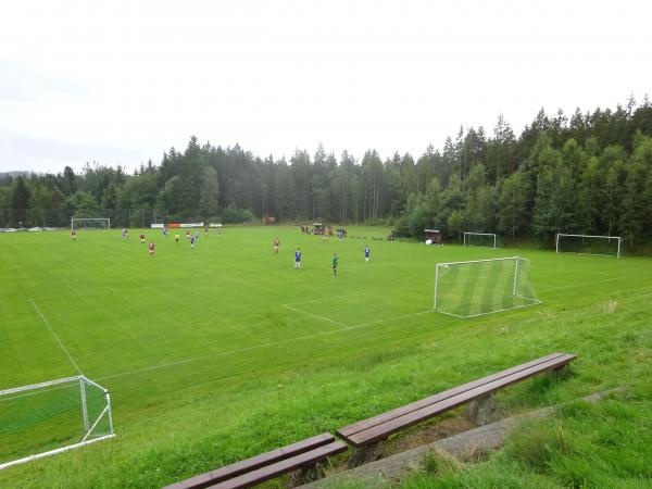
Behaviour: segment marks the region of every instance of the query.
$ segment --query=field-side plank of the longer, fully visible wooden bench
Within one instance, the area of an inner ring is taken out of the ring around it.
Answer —
[[[442,401],[444,399],[448,399],[452,396],[459,394],[461,392],[464,392],[466,390],[473,389],[475,387],[481,386],[484,384],[497,380],[499,378],[502,378],[506,375],[511,375],[517,372],[522,372],[526,368],[536,366],[536,365],[540,365],[542,363],[546,363],[550,360],[554,360],[557,358],[563,356],[563,353],[551,353],[549,355],[542,356],[540,359],[537,360],[532,360],[531,362],[526,362],[524,364],[521,365],[516,365],[514,367],[507,368],[505,371],[502,372],[498,372],[496,374],[489,375],[487,377],[480,378],[478,380],[473,380],[471,383],[467,384],[463,384],[462,386],[457,386],[454,387],[452,389],[446,390],[443,392],[439,392],[435,396],[430,396],[428,398],[422,399],[419,401],[416,402],[412,402],[410,404],[405,404],[401,408],[397,408],[394,410],[388,411],[386,413],[379,414],[378,416],[374,416],[374,417],[369,417],[367,419],[354,423],[352,425],[346,426],[343,428],[338,429],[336,432],[340,438],[344,438],[347,439],[348,437],[359,432],[359,431],[363,431],[365,429],[368,429],[373,426],[376,425],[380,425],[383,423],[386,423],[390,419],[393,419],[396,417],[400,417],[403,416],[405,414],[409,414],[413,411],[417,411],[419,409],[426,408],[430,404],[434,404],[436,402]]]

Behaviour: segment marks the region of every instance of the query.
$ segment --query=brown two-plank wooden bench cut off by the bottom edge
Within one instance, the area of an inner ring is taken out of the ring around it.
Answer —
[[[308,482],[323,475],[319,462],[347,450],[348,447],[344,443],[336,441],[333,435],[324,432],[316,437],[195,476],[190,479],[181,480],[180,482],[167,486],[166,489],[208,487],[235,489],[253,487],[280,475],[297,471],[299,471],[297,475],[298,481]]]

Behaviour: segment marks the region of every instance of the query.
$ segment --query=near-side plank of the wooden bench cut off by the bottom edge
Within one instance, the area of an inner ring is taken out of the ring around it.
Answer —
[[[212,489],[239,489],[246,487],[256,486],[266,480],[273,479],[284,474],[294,472],[304,465],[314,464],[322,460],[325,460],[331,455],[343,453],[349,449],[347,444],[341,441],[334,441],[324,447],[316,448],[310,452],[301,453],[291,459],[286,459],[275,464],[261,467],[256,471],[242,474],[233,479],[224,480],[214,486],[210,486]]]

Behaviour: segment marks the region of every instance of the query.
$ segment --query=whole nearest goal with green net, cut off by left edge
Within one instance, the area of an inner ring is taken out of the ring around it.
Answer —
[[[83,375],[0,390],[0,469],[113,436],[109,391]]]

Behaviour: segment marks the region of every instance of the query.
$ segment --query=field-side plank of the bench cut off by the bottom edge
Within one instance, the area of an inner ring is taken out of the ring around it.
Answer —
[[[318,447],[331,443],[335,441],[335,437],[329,432],[323,432],[316,437],[309,438],[297,443],[288,444],[280,449],[272,450],[269,452],[261,453],[260,455],[252,456],[240,462],[236,462],[224,467],[216,468],[215,471],[206,472],[186,480],[167,486],[165,489],[202,489],[210,487],[222,480],[226,480],[230,477],[236,477],[240,474],[244,474],[250,471],[279,462],[285,459],[292,457],[303,452],[311,451]]]

